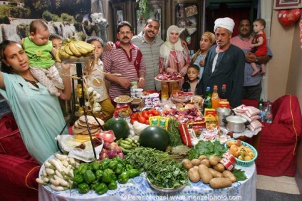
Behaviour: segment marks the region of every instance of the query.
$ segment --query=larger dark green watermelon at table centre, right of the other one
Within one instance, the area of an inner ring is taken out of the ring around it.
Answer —
[[[157,125],[151,125],[140,132],[140,145],[145,148],[155,148],[165,151],[169,145],[167,130]]]

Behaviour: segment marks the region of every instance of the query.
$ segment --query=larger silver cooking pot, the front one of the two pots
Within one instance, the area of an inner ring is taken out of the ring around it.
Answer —
[[[234,133],[242,133],[249,122],[241,116],[231,115],[223,120],[227,124],[227,130]]]

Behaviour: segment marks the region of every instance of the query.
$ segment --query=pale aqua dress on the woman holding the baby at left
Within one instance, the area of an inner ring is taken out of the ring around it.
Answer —
[[[28,153],[42,164],[58,152],[56,136],[65,125],[58,97],[41,83],[36,88],[21,76],[2,74],[6,91],[0,89],[0,93],[11,106]]]

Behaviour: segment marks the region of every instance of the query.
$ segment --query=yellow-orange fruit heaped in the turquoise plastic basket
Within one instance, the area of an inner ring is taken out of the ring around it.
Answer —
[[[241,144],[241,140],[227,141],[228,152],[239,160],[249,161],[255,158],[255,153],[248,146]]]

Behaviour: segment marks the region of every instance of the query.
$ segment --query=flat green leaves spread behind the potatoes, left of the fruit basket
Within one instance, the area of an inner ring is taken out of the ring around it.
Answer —
[[[219,158],[222,158],[222,155],[226,151],[227,148],[224,148],[224,146],[220,144],[219,140],[215,140],[214,143],[209,140],[200,140],[197,145],[189,151],[189,160],[199,158],[200,155],[207,155],[207,158],[211,155],[217,155]]]

